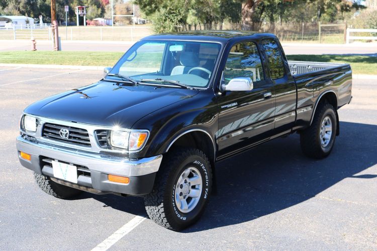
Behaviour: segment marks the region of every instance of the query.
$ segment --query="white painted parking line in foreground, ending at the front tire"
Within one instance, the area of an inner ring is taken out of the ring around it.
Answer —
[[[132,229],[137,227],[145,219],[146,219],[145,216],[140,216],[140,215],[135,216],[134,218],[132,218],[132,220],[130,220],[124,226],[122,226],[117,231],[115,231],[107,239],[102,241],[95,248],[91,249],[91,251],[105,251],[109,249],[112,245],[114,245],[118,240],[123,238],[127,233],[131,232]]]

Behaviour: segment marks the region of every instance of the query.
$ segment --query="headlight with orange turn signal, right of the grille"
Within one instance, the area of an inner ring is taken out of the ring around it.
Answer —
[[[137,151],[144,147],[148,139],[148,132],[127,132],[112,130],[110,134],[110,143],[113,147]]]

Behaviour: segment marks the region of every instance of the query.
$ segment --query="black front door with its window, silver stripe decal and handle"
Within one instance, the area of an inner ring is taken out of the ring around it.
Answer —
[[[267,140],[274,127],[273,83],[265,78],[260,53],[254,42],[237,43],[231,48],[223,81],[227,84],[236,77],[251,78],[253,89],[224,91],[218,96],[219,131],[216,139],[219,158]]]

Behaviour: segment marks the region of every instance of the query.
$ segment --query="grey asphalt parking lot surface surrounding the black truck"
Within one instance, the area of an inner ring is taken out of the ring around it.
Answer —
[[[328,158],[304,157],[294,134],[220,162],[218,194],[202,219],[173,232],[147,217],[128,224],[146,215],[140,197],[47,195],[18,161],[23,109],[101,77],[99,70],[0,67],[0,249],[90,250],[125,225],[130,231],[110,250],[377,249],[377,80],[353,81]]]

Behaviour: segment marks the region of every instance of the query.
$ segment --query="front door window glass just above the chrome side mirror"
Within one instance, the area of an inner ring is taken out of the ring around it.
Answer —
[[[262,63],[255,43],[238,43],[230,50],[224,69],[225,84],[236,77],[249,77],[253,82],[264,80]]]

